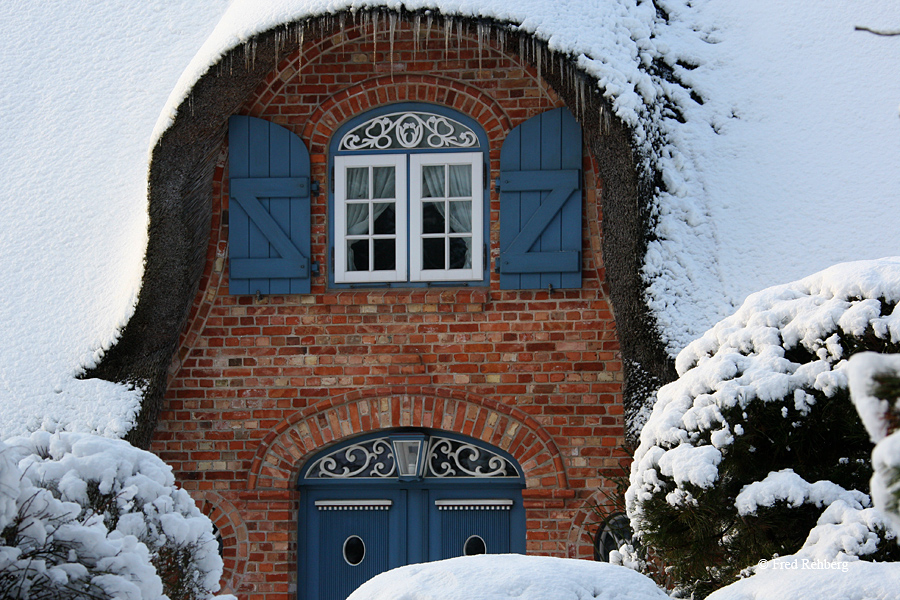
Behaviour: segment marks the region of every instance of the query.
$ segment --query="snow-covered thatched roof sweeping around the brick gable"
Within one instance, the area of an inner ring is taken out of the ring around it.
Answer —
[[[489,22],[589,78],[649,186],[635,272],[669,356],[756,289],[896,253],[900,37],[854,31],[900,25],[890,0],[3,3],[0,437],[135,426],[147,382],[78,376],[147,282],[151,152],[233,49],[373,8]]]

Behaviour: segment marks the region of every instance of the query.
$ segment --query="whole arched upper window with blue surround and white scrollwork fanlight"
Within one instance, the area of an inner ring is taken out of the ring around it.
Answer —
[[[486,143],[443,113],[386,107],[335,136],[336,284],[485,281]]]

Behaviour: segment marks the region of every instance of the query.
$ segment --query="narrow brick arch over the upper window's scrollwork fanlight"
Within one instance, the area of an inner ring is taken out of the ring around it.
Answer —
[[[346,88],[316,108],[302,134],[310,142],[310,154],[327,154],[331,136],[347,120],[396,102],[426,102],[453,108],[475,119],[496,149],[512,129],[497,101],[477,87],[434,75],[386,75]]]

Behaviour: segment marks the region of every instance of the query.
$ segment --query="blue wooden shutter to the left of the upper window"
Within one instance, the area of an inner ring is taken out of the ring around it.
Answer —
[[[303,142],[263,119],[228,121],[231,294],[310,292],[310,163]]]

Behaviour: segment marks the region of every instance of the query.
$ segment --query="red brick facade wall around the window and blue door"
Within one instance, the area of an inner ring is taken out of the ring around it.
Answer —
[[[382,24],[382,29],[387,29]],[[376,39],[377,37],[377,39]],[[243,114],[298,134],[310,150],[312,259],[327,264],[332,133],[393,102],[477,120],[490,181],[509,131],[562,103],[519,57],[474,32],[373,36],[351,27],[307,39]],[[228,294],[227,148],[215,178],[206,273],[173,364],[152,449],[198,499],[225,543],[226,589],[296,597],[297,472],[329,443],[399,426],[469,435],[511,453],[527,479],[529,552],[588,557],[590,505],[618,474],[622,369],[600,254],[601,182],[584,157],[583,285],[577,290],[330,289]],[[498,253],[491,191],[490,261]],[[325,269],[323,269],[323,272]]]

